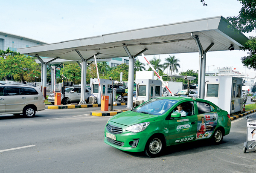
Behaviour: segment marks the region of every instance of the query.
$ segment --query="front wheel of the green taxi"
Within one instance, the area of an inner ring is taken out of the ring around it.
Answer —
[[[148,142],[145,146],[145,154],[148,157],[158,157],[161,156],[165,148],[165,142],[162,138],[152,136],[148,139]]]

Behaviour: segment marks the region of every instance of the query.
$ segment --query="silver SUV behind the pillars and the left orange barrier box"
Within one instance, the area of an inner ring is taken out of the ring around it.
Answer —
[[[91,90],[86,88],[86,103],[89,102],[89,97],[91,95]],[[79,103],[81,99],[81,86],[73,86],[70,88],[66,88],[65,90],[65,101],[67,104],[70,103]],[[48,97],[48,101],[51,102],[51,104],[54,104],[54,93],[50,94]],[[63,100],[63,94],[61,93],[61,104],[64,103]]]

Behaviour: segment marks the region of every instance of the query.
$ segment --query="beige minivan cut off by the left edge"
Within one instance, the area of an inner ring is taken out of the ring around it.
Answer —
[[[0,85],[0,114],[23,114],[30,118],[44,107],[44,96],[37,86]]]

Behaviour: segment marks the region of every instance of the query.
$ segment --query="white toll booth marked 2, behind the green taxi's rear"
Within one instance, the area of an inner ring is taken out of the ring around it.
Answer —
[[[229,114],[242,109],[242,78],[206,76],[205,100],[211,101]]]

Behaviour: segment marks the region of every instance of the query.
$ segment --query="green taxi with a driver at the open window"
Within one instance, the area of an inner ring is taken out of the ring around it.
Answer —
[[[160,97],[119,113],[105,126],[106,144],[119,150],[163,154],[166,146],[211,138],[221,143],[230,133],[227,111],[200,98]]]

